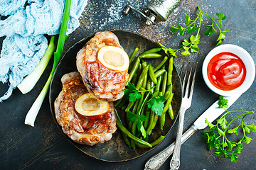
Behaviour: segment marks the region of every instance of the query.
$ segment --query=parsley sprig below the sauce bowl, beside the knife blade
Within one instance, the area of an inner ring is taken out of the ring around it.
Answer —
[[[218,101],[219,108],[228,108],[228,99],[223,98],[223,96],[220,96],[220,99]],[[253,111],[227,111],[225,109],[226,113],[221,116],[220,119],[217,120],[216,125],[213,125],[206,119],[206,123],[208,124],[208,127],[212,130],[210,131],[204,131],[203,132],[203,138],[206,139],[207,145],[209,149],[215,149],[215,155],[217,157],[220,157],[220,155],[223,154],[223,158],[228,157],[231,162],[238,162],[238,154],[241,153],[243,142],[246,144],[250,143],[252,141],[252,138],[247,137],[247,133],[255,132],[256,131],[256,125],[246,125],[244,123],[244,119],[247,115],[254,113]],[[226,115],[228,113],[242,113],[241,115],[238,115],[233,120],[228,123],[226,120]],[[235,128],[229,128],[230,124],[233,123],[238,118],[242,118],[239,125]],[[228,123],[228,125],[227,125]],[[238,129],[242,128],[242,134],[243,137],[239,139],[238,142],[233,142],[231,140],[228,140],[228,137],[226,136],[227,133],[235,133],[238,135]],[[216,133],[215,133],[216,132]]]

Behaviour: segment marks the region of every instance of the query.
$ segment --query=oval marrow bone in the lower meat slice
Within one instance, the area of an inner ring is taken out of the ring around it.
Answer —
[[[93,94],[84,94],[75,101],[75,111],[81,115],[101,115],[110,109],[110,103],[101,101]]]

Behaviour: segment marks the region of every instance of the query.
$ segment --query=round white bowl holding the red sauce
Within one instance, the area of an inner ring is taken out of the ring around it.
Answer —
[[[210,80],[208,79],[207,76],[207,66],[208,63],[210,62],[210,59],[214,57],[215,55],[218,55],[220,52],[231,52],[242,60],[242,62],[245,64],[245,69],[246,69],[246,76],[245,76],[245,81],[243,81],[242,85],[240,85],[238,88],[230,90],[230,91],[223,91],[210,83]],[[242,47],[239,47],[238,45],[231,45],[231,44],[226,44],[226,45],[220,45],[218,47],[215,47],[213,50],[211,50],[208,55],[206,56],[205,60],[203,61],[203,67],[202,67],[202,73],[203,73],[203,79],[206,82],[206,85],[214,91],[216,94],[220,94],[222,96],[237,96],[250,88],[252,85],[252,82],[255,79],[255,63],[252,60],[252,57],[250,54],[243,49]]]

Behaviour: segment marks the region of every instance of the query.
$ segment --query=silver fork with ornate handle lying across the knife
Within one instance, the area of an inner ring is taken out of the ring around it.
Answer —
[[[193,79],[192,79],[193,64],[191,65],[189,74],[188,74],[188,67],[190,67],[190,64],[187,64],[186,72],[185,72],[185,75],[184,75],[183,81],[182,81],[182,101],[181,101],[181,109],[179,111],[178,135],[176,137],[176,145],[174,147],[174,154],[173,154],[173,157],[170,162],[171,170],[176,170],[180,166],[181,136],[182,136],[182,132],[183,132],[184,114],[185,114],[185,111],[188,108],[190,108],[190,106],[191,106],[191,101],[192,101],[192,96],[193,96],[193,87],[195,84],[196,68],[194,69]],[[197,64],[196,64],[196,67],[197,67]],[[184,64],[181,69],[181,74],[183,73],[183,69],[184,69]],[[191,81],[191,79],[192,79],[192,81]],[[185,89],[185,86],[186,86],[186,89]]]

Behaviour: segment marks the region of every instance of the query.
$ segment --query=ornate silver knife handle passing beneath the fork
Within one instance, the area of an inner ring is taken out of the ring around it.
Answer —
[[[181,144],[188,140],[188,138],[191,137],[196,131],[198,131],[198,128],[196,128],[195,125],[192,125],[191,128],[189,128],[185,133],[183,133],[181,137]],[[166,162],[166,159],[168,159],[170,155],[174,152],[174,146],[175,142],[173,142],[171,145],[169,145],[169,147],[166,147],[158,154],[155,154],[153,157],[151,157],[146,162],[144,170],[159,169],[164,164],[164,162]]]

